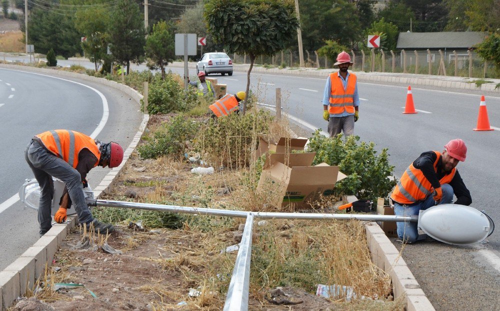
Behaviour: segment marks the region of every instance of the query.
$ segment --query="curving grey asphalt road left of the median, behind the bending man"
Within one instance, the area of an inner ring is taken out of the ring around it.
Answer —
[[[124,93],[88,81],[74,83],[8,69],[0,69],[0,80],[2,270],[39,238],[35,210],[24,207],[20,201],[4,209],[24,179],[33,177],[24,160],[24,149],[31,137],[48,129],[73,129],[87,135],[100,129],[97,139],[113,140],[126,148],[142,121],[142,114],[138,104]],[[101,122],[104,111],[109,116]],[[95,187],[108,171],[100,166],[93,168],[88,175],[90,186]]]

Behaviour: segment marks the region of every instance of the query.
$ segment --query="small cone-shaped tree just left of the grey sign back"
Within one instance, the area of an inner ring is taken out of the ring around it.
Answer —
[[[165,21],[153,25],[153,31],[147,36],[144,47],[149,69],[161,68],[161,78],[165,78],[165,66],[175,57],[175,41]]]

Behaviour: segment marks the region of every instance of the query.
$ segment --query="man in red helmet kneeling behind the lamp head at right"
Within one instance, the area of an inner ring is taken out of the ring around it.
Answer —
[[[472,198],[455,166],[464,161],[467,147],[461,139],[452,139],[442,152],[426,151],[409,165],[396,184],[390,198],[394,202],[394,214],[418,215],[422,209],[436,204],[451,203],[470,205]],[[417,223],[396,222],[397,235],[403,242],[412,243],[426,239],[418,235]]]

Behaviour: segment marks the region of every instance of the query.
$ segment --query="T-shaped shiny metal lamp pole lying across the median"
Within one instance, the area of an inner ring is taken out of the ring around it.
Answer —
[[[250,212],[242,210],[226,210],[218,208],[189,207],[178,205],[162,205],[152,203],[136,203],[126,201],[101,200],[86,198],[90,206],[110,206],[133,209],[146,209],[166,212],[179,212],[188,214],[214,215],[225,217],[246,218],[241,243],[239,244],[236,262],[232,270],[231,281],[224,303],[224,311],[248,310],[248,288],[250,282],[250,257],[251,239],[253,230],[253,218],[266,219],[357,219],[364,221],[411,221],[417,222],[418,216],[395,216],[395,215],[361,215],[361,214],[333,214],[333,213],[294,213],[294,212]]]

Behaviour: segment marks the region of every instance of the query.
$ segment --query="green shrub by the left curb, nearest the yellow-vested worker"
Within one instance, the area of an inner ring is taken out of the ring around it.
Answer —
[[[150,114],[188,111],[198,105],[198,96],[193,90],[184,91],[178,75],[169,72],[165,79],[156,74],[149,84],[148,106]]]

